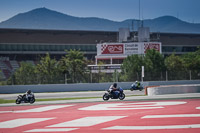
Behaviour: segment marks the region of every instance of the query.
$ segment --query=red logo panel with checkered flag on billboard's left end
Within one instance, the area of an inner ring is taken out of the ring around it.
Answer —
[[[101,54],[123,54],[123,53],[124,53],[123,44],[101,45]]]

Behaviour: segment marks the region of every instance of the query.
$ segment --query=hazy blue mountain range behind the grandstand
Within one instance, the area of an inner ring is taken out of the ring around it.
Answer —
[[[121,27],[132,25],[136,30],[138,20],[117,22],[95,17],[74,17],[47,8],[37,8],[1,22],[0,28],[118,31]],[[143,25],[150,27],[151,32],[200,33],[200,24],[184,22],[172,16],[146,19],[143,20]]]

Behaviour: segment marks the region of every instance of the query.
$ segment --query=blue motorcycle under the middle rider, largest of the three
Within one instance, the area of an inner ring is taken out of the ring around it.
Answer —
[[[111,99],[120,99],[123,100],[125,98],[125,94],[123,89],[119,87],[116,91],[111,92],[112,89],[108,89],[107,92],[103,95],[103,100],[107,101]]]

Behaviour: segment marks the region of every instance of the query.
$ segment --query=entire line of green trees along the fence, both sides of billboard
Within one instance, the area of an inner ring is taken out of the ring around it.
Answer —
[[[164,57],[158,51],[148,50],[145,55],[128,56],[121,66],[121,73],[92,74],[87,68],[91,61],[85,59],[79,50],[66,51],[60,60],[47,53],[37,65],[21,62],[12,76],[4,84],[63,84],[88,82],[126,82],[141,80],[144,66],[144,80],[200,79],[200,49],[184,55],[171,54]],[[102,63],[100,63],[101,65]],[[92,78],[91,78],[92,77]],[[116,79],[117,77],[117,79]]]

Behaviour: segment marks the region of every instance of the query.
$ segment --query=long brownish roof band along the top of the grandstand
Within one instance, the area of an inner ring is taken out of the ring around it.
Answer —
[[[162,45],[200,45],[200,34],[151,33]],[[118,32],[0,29],[0,43],[97,44],[117,42]]]

